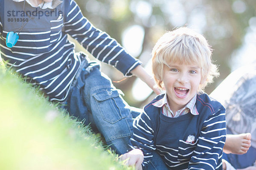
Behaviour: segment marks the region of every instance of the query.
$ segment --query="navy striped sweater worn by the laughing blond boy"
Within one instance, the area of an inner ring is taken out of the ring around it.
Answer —
[[[187,113],[177,118],[164,116],[162,108],[146,105],[134,120],[131,148],[143,151],[143,166],[152,151],[172,170],[222,170],[222,149],[226,140],[225,108],[207,94],[197,95],[199,115]]]

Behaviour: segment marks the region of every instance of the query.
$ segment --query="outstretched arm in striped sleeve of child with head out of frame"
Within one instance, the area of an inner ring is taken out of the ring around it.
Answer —
[[[79,6],[73,0],[65,0],[68,5],[65,11],[64,31],[75,40],[79,41],[83,47],[96,59],[113,65],[124,76],[129,77],[134,73],[142,79],[156,94],[160,94],[158,89],[154,89],[154,80],[146,71],[139,66],[141,62],[128,54],[125,49],[107,33],[93,26],[87,18],[83,16]]]

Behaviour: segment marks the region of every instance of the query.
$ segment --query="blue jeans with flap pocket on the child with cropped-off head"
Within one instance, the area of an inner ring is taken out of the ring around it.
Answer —
[[[120,93],[100,72],[99,63],[84,59],[70,87],[66,108],[71,116],[99,130],[116,153],[123,154],[129,148],[133,117],[140,110],[130,107]]]

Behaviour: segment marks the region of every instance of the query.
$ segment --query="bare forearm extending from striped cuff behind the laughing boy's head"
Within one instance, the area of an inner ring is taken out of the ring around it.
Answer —
[[[148,87],[150,87],[157,95],[161,94],[158,88],[154,88],[155,82],[153,77],[151,77],[141,65],[138,65],[136,68],[134,68],[131,73],[145,82]]]

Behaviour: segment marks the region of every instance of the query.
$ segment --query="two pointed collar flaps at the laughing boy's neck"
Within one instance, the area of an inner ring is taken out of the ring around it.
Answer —
[[[196,94],[195,96],[186,104],[186,106],[184,108],[181,108],[180,110],[183,110],[185,108],[189,108],[190,112],[192,113],[192,115],[198,115],[198,111],[196,109],[196,106],[195,106],[195,102],[196,102]],[[157,102],[154,102],[152,105],[154,105],[155,107],[157,108],[162,108],[163,105],[167,105],[168,108],[169,107],[169,104],[167,102],[167,94],[165,94],[163,96],[162,99],[158,100]],[[179,110],[179,111],[180,111]]]

